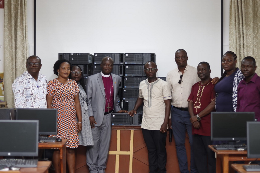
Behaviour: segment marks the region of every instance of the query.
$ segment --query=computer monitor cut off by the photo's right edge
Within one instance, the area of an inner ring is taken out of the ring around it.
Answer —
[[[247,157],[260,158],[260,122],[247,122]]]

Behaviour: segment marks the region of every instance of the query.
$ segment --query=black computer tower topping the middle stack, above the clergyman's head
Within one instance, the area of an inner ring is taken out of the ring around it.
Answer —
[[[93,64],[101,64],[101,60],[106,56],[112,58],[114,64],[124,64],[125,53],[94,53]]]

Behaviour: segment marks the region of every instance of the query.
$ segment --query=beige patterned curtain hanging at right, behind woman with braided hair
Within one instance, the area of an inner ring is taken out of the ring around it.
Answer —
[[[260,0],[230,0],[229,49],[241,60],[252,56],[260,75]]]

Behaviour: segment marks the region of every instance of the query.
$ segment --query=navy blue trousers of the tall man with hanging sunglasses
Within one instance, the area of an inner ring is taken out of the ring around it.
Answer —
[[[185,148],[186,130],[189,135],[190,143],[190,172],[197,173],[196,164],[194,161],[192,147],[192,124],[190,122],[189,111],[181,111],[175,107],[171,108],[171,126],[176,146],[177,158],[181,173],[189,173],[187,153]]]

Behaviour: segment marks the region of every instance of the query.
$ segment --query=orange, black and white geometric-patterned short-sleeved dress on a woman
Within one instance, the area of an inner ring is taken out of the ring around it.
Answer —
[[[79,93],[79,87],[74,80],[68,79],[64,85],[57,79],[48,82],[47,95],[53,96],[52,108],[58,109],[58,134],[62,139],[68,139],[68,148],[79,146],[77,120],[74,98]]]

